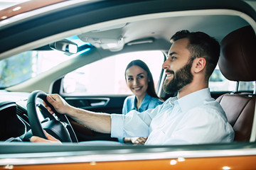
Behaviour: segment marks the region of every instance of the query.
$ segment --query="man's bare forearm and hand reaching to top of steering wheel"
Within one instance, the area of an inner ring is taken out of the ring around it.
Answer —
[[[111,118],[107,113],[95,113],[86,111],[80,108],[70,106],[58,94],[49,94],[46,97],[47,101],[55,108],[58,113],[69,115],[74,120],[78,121],[87,128],[91,128],[97,132],[110,133]],[[48,111],[53,114],[53,111],[46,103],[44,103]]]

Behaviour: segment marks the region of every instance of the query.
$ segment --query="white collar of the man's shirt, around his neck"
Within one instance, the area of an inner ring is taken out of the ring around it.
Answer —
[[[192,94],[188,94],[186,96],[183,96],[182,98],[179,98],[178,105],[181,107],[181,111],[187,112],[191,108],[194,108],[196,106],[200,106],[203,104],[203,101],[206,101],[206,99],[211,98],[210,96],[210,89],[201,89],[199,91],[195,91]]]

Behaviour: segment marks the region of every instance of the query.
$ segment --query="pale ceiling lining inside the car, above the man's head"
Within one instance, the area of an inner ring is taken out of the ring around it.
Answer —
[[[202,31],[220,41],[232,30],[246,25],[248,23],[238,16],[210,14],[204,16],[171,16],[142,19],[140,21],[128,20],[111,27],[90,30],[78,35],[78,37],[82,41],[90,42],[95,47],[118,51],[122,50],[125,44],[133,41],[136,41],[134,43],[140,43],[158,39],[169,42],[171,35],[183,29]]]

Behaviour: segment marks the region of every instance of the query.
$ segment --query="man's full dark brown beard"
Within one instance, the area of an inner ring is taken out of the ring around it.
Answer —
[[[184,86],[190,84],[193,80],[193,74],[191,73],[192,61],[186,64],[181,69],[178,69],[176,74],[174,71],[167,69],[166,72],[173,74],[173,79],[164,81],[163,89],[166,94],[173,94],[176,91],[180,91]]]

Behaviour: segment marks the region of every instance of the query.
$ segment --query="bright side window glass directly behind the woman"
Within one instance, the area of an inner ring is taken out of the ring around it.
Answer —
[[[63,94],[132,94],[124,78],[124,70],[132,60],[142,60],[149,66],[156,87],[159,84],[164,54],[161,51],[129,52],[107,57],[66,74],[63,79]]]

